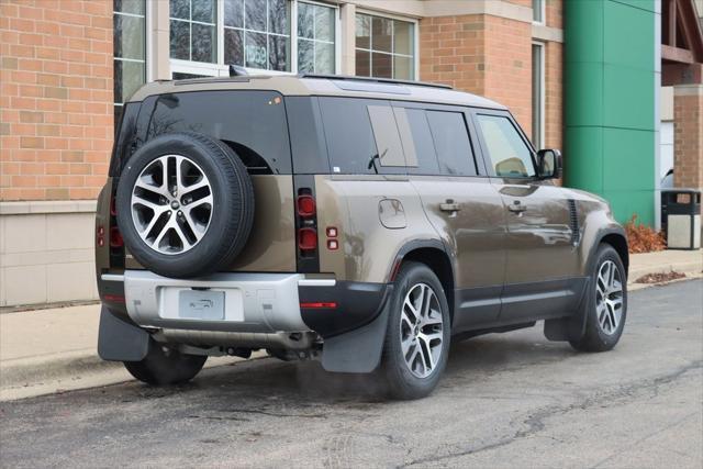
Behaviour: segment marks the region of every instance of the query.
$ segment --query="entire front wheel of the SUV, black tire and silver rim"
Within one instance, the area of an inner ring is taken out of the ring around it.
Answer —
[[[569,340],[581,351],[606,351],[615,347],[627,316],[627,275],[617,252],[602,244],[595,254],[588,297],[583,302],[585,331]]]

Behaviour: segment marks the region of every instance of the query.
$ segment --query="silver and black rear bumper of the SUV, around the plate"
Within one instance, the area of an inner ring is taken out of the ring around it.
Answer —
[[[373,321],[390,291],[384,283],[335,281],[301,273],[233,272],[171,279],[146,270],[102,275],[99,287],[109,308],[109,299],[113,298],[110,293],[124,292],[122,308],[132,322],[144,328],[254,334],[312,331],[323,338]],[[187,290],[223,292],[223,317],[181,317],[179,295]]]

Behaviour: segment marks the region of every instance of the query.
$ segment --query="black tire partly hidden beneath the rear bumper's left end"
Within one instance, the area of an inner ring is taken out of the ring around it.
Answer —
[[[142,361],[123,361],[134,378],[152,386],[180,384],[200,372],[204,355],[186,355],[149,339],[149,351]]]

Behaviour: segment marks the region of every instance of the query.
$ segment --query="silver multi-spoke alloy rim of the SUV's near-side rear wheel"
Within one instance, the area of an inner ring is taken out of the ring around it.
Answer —
[[[401,351],[417,378],[426,378],[439,364],[444,345],[444,320],[437,294],[425,283],[413,286],[400,315]]]

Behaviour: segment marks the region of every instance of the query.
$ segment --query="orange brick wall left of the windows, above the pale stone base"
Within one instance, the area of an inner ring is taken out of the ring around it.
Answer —
[[[0,2],[0,200],[94,199],[112,146],[112,2]]]

